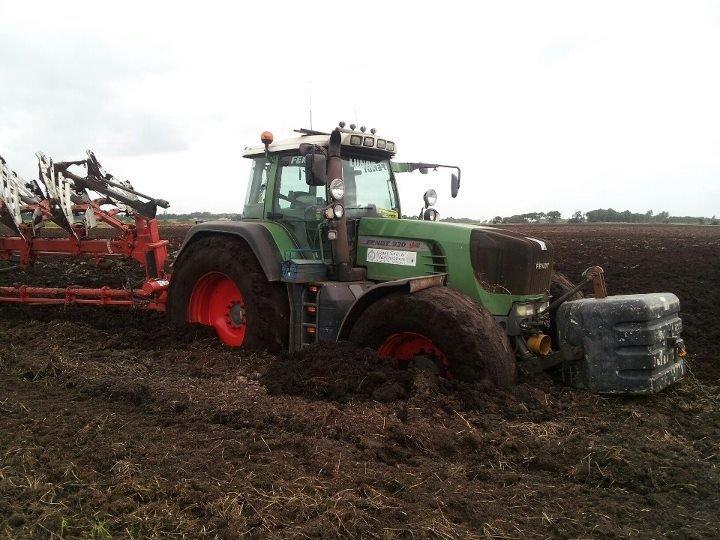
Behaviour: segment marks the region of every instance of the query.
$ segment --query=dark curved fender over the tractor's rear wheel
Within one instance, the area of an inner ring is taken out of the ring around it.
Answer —
[[[183,253],[191,243],[200,238],[217,234],[236,236],[245,240],[257,257],[268,281],[280,281],[282,253],[268,224],[262,221],[207,221],[195,225],[185,236],[175,264],[177,265],[182,260]],[[291,242],[289,237],[287,242]]]

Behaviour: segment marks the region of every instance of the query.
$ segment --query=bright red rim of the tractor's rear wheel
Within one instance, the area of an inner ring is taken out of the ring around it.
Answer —
[[[193,288],[188,321],[212,326],[223,343],[239,347],[247,329],[245,299],[232,279],[221,272],[210,272]]]

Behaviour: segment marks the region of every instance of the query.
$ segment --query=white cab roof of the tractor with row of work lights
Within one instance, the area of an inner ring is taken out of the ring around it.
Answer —
[[[300,133],[296,137],[289,139],[281,139],[273,141],[268,146],[268,151],[274,152],[285,152],[297,150],[301,144],[315,144],[318,146],[327,147],[330,141],[329,133],[321,133],[318,131],[311,130],[295,130]],[[392,157],[395,155],[397,148],[393,141],[378,136],[376,133],[363,133],[361,131],[352,131],[347,129],[341,129],[340,144],[348,148],[360,150],[364,153],[372,153],[384,157]],[[243,151],[243,157],[256,157],[265,154],[265,146],[246,146]]]

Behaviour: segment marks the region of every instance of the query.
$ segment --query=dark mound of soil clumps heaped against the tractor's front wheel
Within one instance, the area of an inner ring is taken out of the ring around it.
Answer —
[[[271,395],[380,402],[407,399],[413,372],[352,343],[313,345],[275,359],[262,377]]]

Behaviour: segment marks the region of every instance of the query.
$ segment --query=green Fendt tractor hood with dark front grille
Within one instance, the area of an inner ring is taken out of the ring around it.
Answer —
[[[553,262],[548,242],[516,231],[408,219],[362,218],[356,253],[369,279],[447,273],[449,286],[474,298],[502,297],[500,312],[545,295]]]

